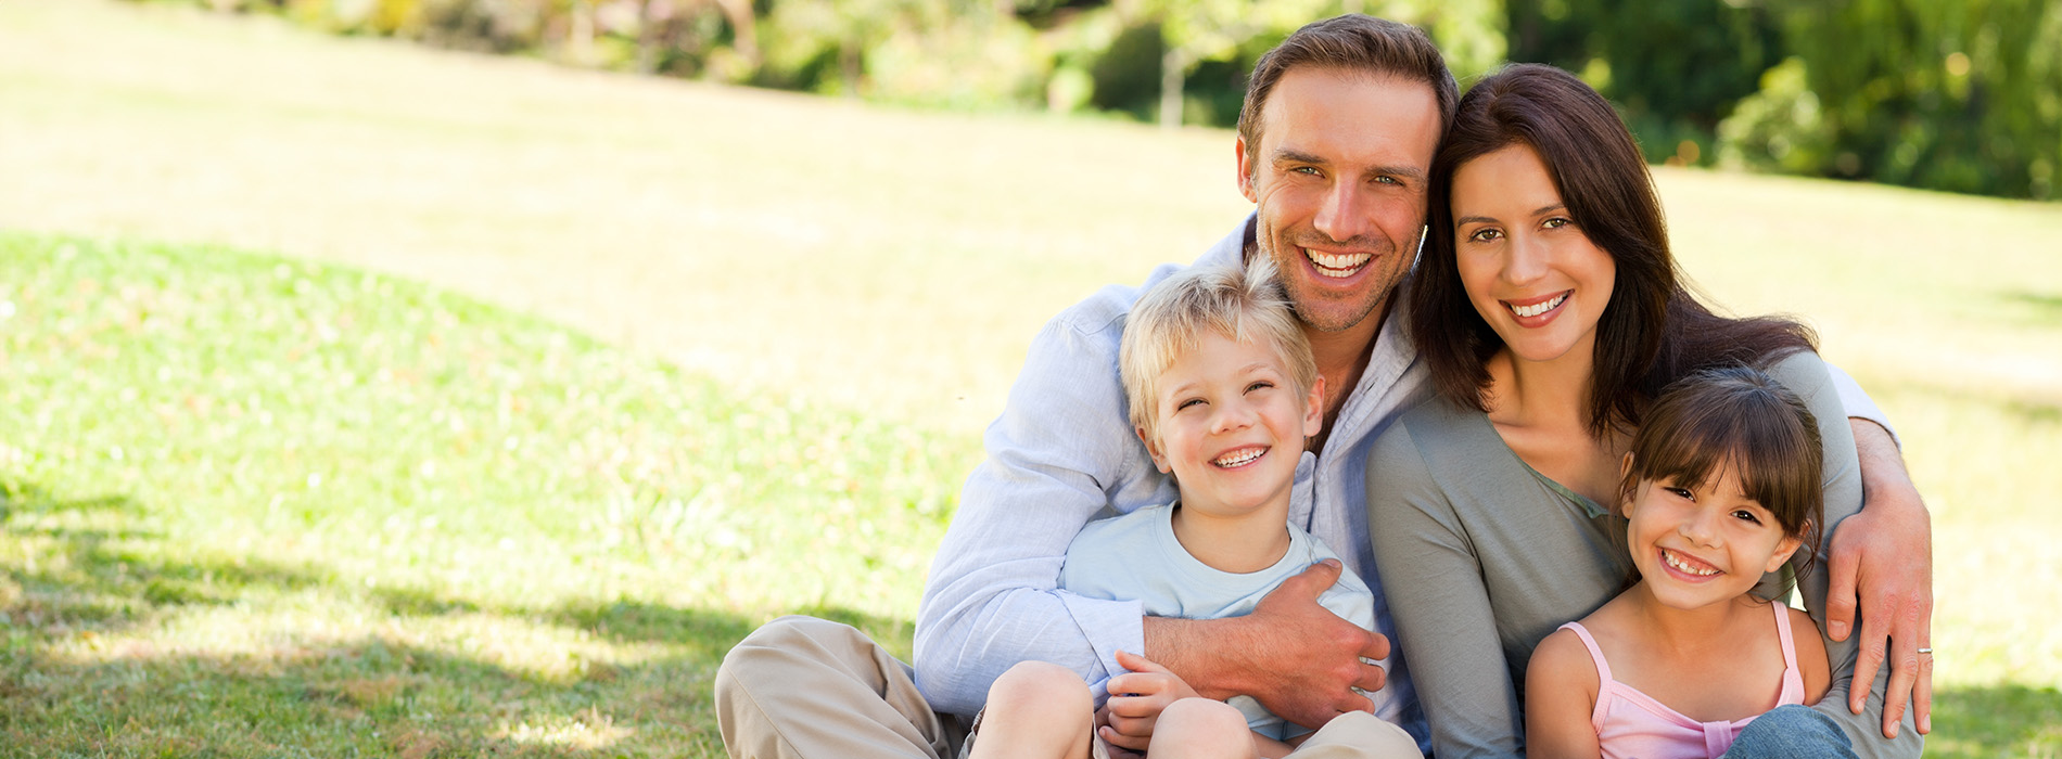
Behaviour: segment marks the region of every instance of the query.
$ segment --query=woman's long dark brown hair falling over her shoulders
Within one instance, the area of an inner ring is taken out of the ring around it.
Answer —
[[[1489,410],[1483,402],[1487,361],[1503,340],[1460,285],[1454,171],[1511,144],[1538,153],[1569,219],[1617,266],[1617,285],[1596,324],[1590,435],[1639,427],[1645,404],[1691,371],[1761,365],[1817,342],[1802,324],[1734,320],[1699,303],[1676,274],[1654,177],[1619,113],[1565,70],[1516,64],[1460,99],[1431,163],[1431,229],[1410,280],[1408,328],[1439,396]]]

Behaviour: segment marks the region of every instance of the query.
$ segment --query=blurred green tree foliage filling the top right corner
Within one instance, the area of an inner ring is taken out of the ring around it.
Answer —
[[[1782,8],[1782,33],[1796,58],[1728,120],[1728,159],[1951,192],[2056,196],[2056,2],[1800,0]],[[1800,105],[1817,118],[1786,122]]]

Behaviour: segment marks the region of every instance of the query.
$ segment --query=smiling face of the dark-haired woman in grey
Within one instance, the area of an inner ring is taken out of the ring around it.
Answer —
[[[1518,361],[1590,361],[1617,264],[1575,227],[1546,163],[1511,144],[1454,171],[1454,248],[1474,311]]]

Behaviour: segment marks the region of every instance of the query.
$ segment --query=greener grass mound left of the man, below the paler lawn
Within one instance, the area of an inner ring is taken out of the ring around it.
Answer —
[[[718,755],[767,615],[907,652],[971,466],[388,276],[0,235],[0,280],[10,751]]]

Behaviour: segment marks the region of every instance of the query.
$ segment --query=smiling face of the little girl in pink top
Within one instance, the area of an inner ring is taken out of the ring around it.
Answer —
[[[1730,466],[1701,485],[1639,481],[1625,518],[1639,578],[1672,608],[1738,598],[1800,544],[1767,507],[1747,497]]]

